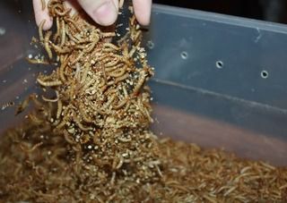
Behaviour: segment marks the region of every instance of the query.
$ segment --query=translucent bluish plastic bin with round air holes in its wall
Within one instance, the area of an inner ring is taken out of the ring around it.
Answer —
[[[51,69],[25,61],[37,28],[23,2],[0,3],[0,133],[23,119],[5,105],[38,91],[37,72]],[[155,4],[143,43],[159,136],[287,165],[285,25]]]

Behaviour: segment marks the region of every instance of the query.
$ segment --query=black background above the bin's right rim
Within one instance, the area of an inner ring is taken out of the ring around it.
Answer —
[[[153,3],[287,23],[285,0],[153,0]]]

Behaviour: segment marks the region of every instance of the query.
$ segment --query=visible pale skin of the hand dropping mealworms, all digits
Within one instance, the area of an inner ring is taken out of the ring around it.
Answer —
[[[48,0],[44,0],[48,4]],[[151,18],[152,0],[133,0],[135,17],[142,25],[148,25]],[[118,0],[67,0],[65,5],[75,13],[79,7],[91,16],[91,19],[103,26],[109,26],[117,20]],[[42,10],[41,0],[33,0],[36,23],[46,20],[43,30],[52,27],[53,21],[48,8]]]

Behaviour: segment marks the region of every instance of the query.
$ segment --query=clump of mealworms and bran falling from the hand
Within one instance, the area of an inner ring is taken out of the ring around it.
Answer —
[[[156,137],[148,129],[152,109],[145,86],[153,71],[140,47],[135,16],[127,38],[110,43],[115,31],[100,30],[81,14],[71,16],[63,1],[51,0],[47,6],[57,30],[44,33],[42,21],[39,43],[48,61],[59,65],[49,75],[39,74],[37,81],[55,91],[55,97],[41,96],[47,104],[44,120],[73,151],[75,173],[97,165],[111,182],[122,175],[138,183],[159,180],[161,162]]]

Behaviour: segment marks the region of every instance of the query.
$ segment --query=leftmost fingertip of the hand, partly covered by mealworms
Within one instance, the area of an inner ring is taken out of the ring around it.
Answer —
[[[46,4],[44,11],[42,10],[41,0],[33,0],[35,20],[38,26],[41,21],[46,20],[43,26],[43,30],[48,30],[52,27],[53,21],[52,18],[48,15],[48,7],[46,0],[43,0],[43,2]]]

